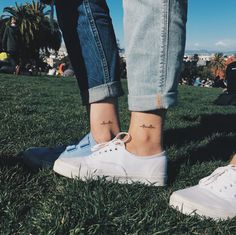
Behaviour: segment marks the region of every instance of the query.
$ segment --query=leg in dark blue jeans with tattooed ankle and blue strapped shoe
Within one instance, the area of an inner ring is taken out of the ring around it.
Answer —
[[[105,0],[56,0],[61,27],[83,104],[87,106],[91,133],[71,146],[30,148],[23,153],[31,168],[52,166],[62,154],[91,153],[96,143],[111,140],[119,131],[117,97],[123,91],[119,76],[116,38]]]

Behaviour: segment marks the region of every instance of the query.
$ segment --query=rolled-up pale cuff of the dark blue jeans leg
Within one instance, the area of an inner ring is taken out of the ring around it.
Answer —
[[[83,105],[103,101],[108,98],[118,98],[124,94],[121,82],[114,81],[88,89],[82,92]]]

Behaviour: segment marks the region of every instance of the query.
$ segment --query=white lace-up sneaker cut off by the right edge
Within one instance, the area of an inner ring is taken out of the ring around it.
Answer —
[[[199,184],[174,192],[170,206],[183,214],[198,214],[215,220],[236,216],[236,166],[216,169]]]

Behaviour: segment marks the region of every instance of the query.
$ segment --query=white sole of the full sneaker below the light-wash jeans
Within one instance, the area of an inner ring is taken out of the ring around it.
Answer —
[[[61,159],[57,159],[55,161],[55,164],[53,166],[53,170],[58,173],[59,175],[68,177],[68,178],[79,178],[83,181],[86,181],[88,179],[97,179],[99,177],[106,177],[106,180],[109,181],[117,181],[121,184],[132,184],[135,182],[139,182],[145,185],[152,185],[152,186],[165,186],[166,185],[166,179],[167,177],[152,177],[152,178],[145,178],[140,176],[118,176],[114,174],[98,174],[95,171],[92,170],[85,170],[83,169],[82,165],[80,168],[74,167],[70,164],[67,164],[66,162],[62,161]]]

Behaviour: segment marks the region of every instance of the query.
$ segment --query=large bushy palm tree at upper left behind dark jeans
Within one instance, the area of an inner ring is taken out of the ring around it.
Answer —
[[[18,27],[22,41],[22,57],[38,60],[40,52],[50,49],[59,50],[62,36],[59,26],[54,19],[50,19],[50,10],[46,11],[44,4],[40,2],[15,4],[15,7],[6,7],[4,12],[9,24],[10,17],[14,16],[18,22]]]

